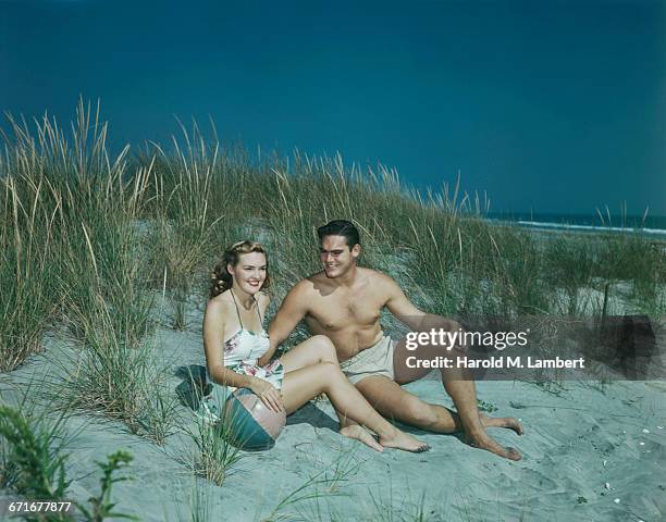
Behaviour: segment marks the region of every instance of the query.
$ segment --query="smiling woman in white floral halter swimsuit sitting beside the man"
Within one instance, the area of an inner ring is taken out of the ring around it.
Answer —
[[[239,241],[224,252],[212,276],[210,300],[203,318],[203,345],[210,378],[215,385],[251,389],[275,411],[293,413],[319,394],[326,394],[336,411],[372,430],[379,443],[360,426],[343,434],[382,451],[384,447],[424,451],[430,447],[381,417],[343,375],[335,348],[325,336],[314,336],[288,353],[259,366],[268,350],[263,316],[269,297],[261,290],[270,283],[264,248]],[[212,394],[202,401],[210,408]],[[213,410],[219,406],[212,403]]]

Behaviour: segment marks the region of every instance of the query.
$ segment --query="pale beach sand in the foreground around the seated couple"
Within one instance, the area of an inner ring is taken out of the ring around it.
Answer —
[[[153,339],[174,374],[181,365],[203,362],[198,313],[193,310],[188,332],[160,328]],[[26,383],[53,372],[62,350],[70,349],[57,337],[46,347],[0,376],[2,401],[16,403]],[[181,383],[174,375],[169,386]],[[406,388],[451,406],[436,380]],[[456,435],[410,428],[432,446],[430,452],[378,453],[342,437],[330,405],[318,401],[288,419],[273,449],[246,453],[215,486],[195,478],[182,461],[193,449],[183,433],[160,447],[120,422],[82,413],[66,424],[78,433],[67,448],[69,496],[84,501],[96,494],[94,461],[126,449],[135,459],[126,471],[132,480],[115,484],[112,496],[119,511],[146,521],[193,520],[196,498],[203,520],[224,521],[664,520],[665,382],[564,382],[550,388],[481,382],[478,391],[496,408],[493,415],[522,421],[522,437],[492,430],[501,444],[522,452],[520,462],[471,448]],[[196,422],[185,406],[178,414],[181,427]]]

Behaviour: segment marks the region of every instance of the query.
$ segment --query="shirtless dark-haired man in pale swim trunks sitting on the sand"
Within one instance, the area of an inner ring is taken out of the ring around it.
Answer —
[[[520,460],[514,448],[505,448],[486,433],[486,427],[508,427],[518,435],[522,426],[513,418],[490,418],[477,407],[474,383],[464,380],[456,369],[441,370],[444,388],[451,395],[457,413],[430,405],[400,387],[430,373],[429,369],[408,368],[405,360],[414,356],[405,339],[395,343],[380,325],[380,311],[386,307],[411,330],[444,327],[457,331],[460,325],[416,308],[400,287],[385,274],[357,266],[361,247],[358,229],[348,221],[332,221],[318,231],[323,271],[298,283],[286,296],[269,327],[271,347],[259,361],[267,363],[301,319],[312,334],[328,336],[337,352],[347,378],[384,417],[436,433],[462,430],[468,443],[501,457]],[[441,346],[419,347],[419,356],[433,359],[444,353]],[[465,348],[455,347],[459,352]],[[343,434],[368,443],[361,426],[341,419]]]

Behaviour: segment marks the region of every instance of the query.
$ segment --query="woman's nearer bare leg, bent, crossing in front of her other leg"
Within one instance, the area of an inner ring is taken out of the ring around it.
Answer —
[[[427,444],[399,431],[380,415],[347,381],[340,366],[331,362],[320,362],[286,373],[281,391],[287,413],[325,393],[337,411],[377,433],[380,445],[416,452],[430,449]]]

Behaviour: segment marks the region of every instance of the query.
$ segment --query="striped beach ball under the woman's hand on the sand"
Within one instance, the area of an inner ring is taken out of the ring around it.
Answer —
[[[226,399],[222,422],[234,446],[270,449],[286,424],[286,413],[271,410],[248,388],[238,388]]]

